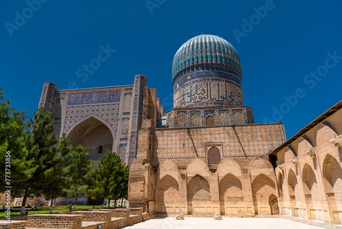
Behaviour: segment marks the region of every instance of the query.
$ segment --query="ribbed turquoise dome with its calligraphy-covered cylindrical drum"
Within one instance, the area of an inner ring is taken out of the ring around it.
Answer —
[[[174,108],[244,105],[241,82],[239,55],[219,36],[196,36],[174,56]]]

